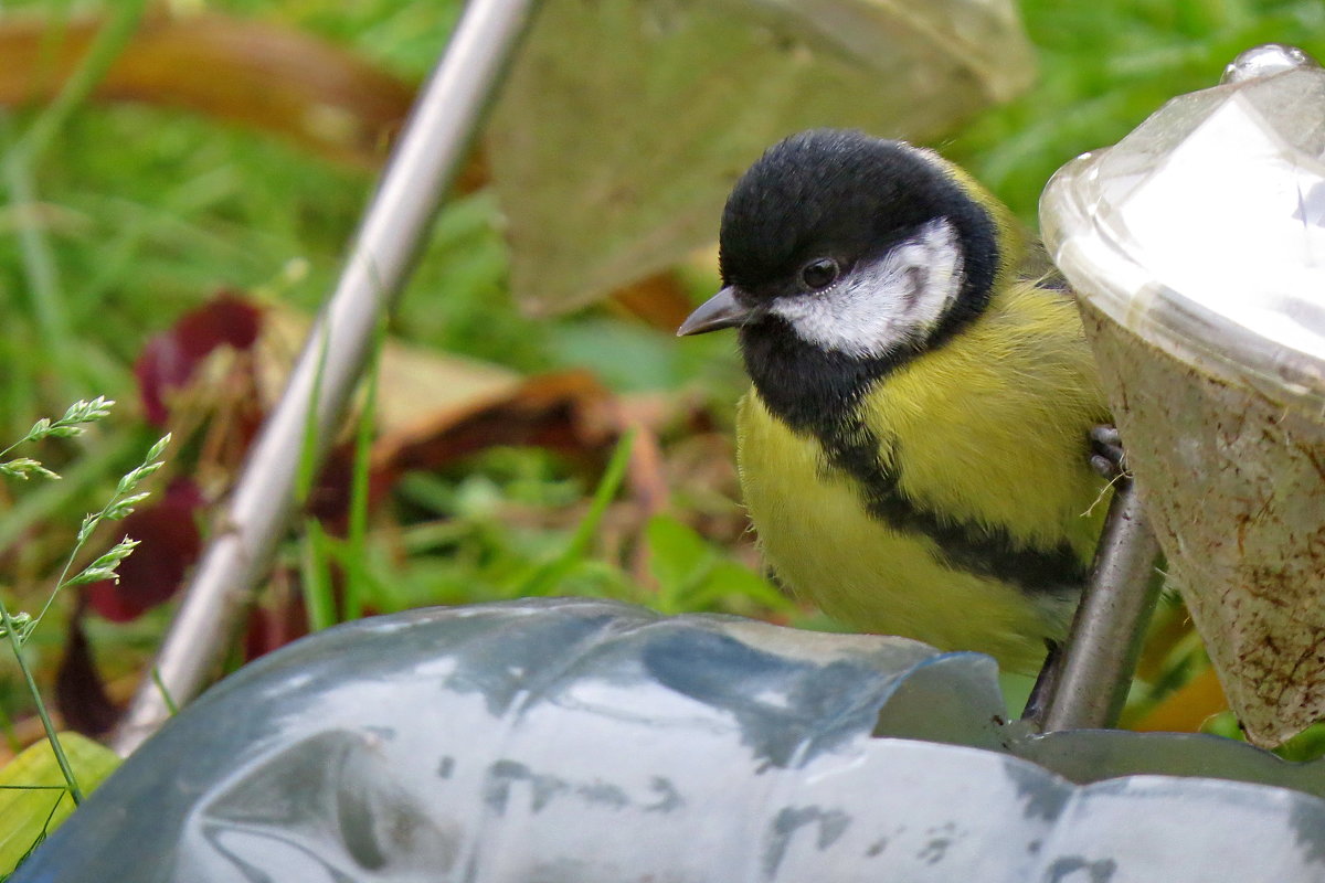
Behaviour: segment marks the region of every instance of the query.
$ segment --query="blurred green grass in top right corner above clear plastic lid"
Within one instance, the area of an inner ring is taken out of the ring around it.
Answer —
[[[1055,169],[1113,144],[1169,98],[1214,86],[1243,49],[1288,42],[1325,56],[1325,7],[1309,0],[1019,5],[1037,82],[939,147],[1032,226]]]

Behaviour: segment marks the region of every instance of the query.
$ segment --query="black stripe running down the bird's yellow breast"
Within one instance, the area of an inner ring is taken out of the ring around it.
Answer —
[[[864,488],[871,515],[896,531],[929,537],[949,567],[994,577],[1034,594],[1065,594],[1085,584],[1089,568],[1067,540],[1052,548],[1018,545],[1002,527],[941,519],[920,506],[902,491],[900,475],[880,462],[878,440],[859,424],[843,426],[819,441],[829,463]],[[900,458],[894,455],[892,462]]]

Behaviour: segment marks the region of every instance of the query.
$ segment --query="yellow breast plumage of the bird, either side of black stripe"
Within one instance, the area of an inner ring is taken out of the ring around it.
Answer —
[[[929,511],[1002,527],[1027,547],[1067,540],[1089,560],[1106,499],[1086,434],[1106,412],[1071,302],[1006,293],[959,339],[876,384],[859,413],[892,442],[880,458],[901,490]],[[754,391],[738,413],[738,461],[768,564],[843,622],[980,650],[1014,670],[1034,670],[1044,639],[1064,635],[1072,598],[950,567],[929,536],[873,518],[819,441]]]

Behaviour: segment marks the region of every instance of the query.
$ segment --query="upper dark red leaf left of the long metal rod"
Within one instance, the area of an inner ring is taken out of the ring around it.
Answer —
[[[143,346],[134,363],[134,377],[147,420],[163,426],[170,416],[166,398],[186,385],[199,363],[221,346],[248,349],[257,340],[261,311],[231,291],[182,315],[170,331]]]

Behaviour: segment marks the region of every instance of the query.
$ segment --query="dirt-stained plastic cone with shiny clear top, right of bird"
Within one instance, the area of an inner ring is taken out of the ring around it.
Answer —
[[[1059,169],[1040,222],[1170,582],[1279,744],[1325,718],[1325,70],[1243,53]]]

